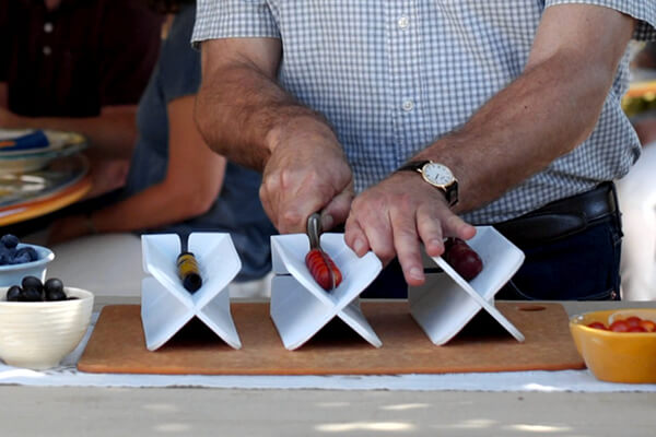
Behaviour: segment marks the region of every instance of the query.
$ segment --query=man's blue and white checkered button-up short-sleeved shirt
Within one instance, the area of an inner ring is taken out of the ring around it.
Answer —
[[[655,0],[199,0],[192,39],[280,38],[280,84],[330,120],[361,191],[515,80],[544,8],[563,3],[613,8],[656,38]],[[640,155],[620,105],[628,63],[584,143],[464,217],[501,222],[625,175]]]

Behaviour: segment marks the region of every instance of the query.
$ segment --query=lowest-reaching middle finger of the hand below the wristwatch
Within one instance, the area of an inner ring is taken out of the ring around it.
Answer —
[[[394,232],[394,247],[398,257],[403,276],[408,285],[417,286],[424,283],[421,247],[417,231],[415,213],[412,209],[394,209],[390,212],[391,228]]]

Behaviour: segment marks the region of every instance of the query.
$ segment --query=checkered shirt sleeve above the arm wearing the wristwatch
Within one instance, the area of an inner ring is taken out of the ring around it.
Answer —
[[[656,0],[546,0],[546,8],[557,4],[594,4],[622,12],[637,20],[633,39],[656,39]]]

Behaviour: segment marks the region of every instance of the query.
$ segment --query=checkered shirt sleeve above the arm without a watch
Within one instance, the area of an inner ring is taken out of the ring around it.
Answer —
[[[266,0],[198,0],[191,42],[262,37],[280,38],[271,8]]]

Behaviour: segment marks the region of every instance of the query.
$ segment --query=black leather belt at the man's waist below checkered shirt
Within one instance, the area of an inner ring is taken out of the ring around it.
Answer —
[[[557,200],[493,226],[514,244],[524,246],[574,235],[617,212],[614,184],[602,182],[590,191]]]

